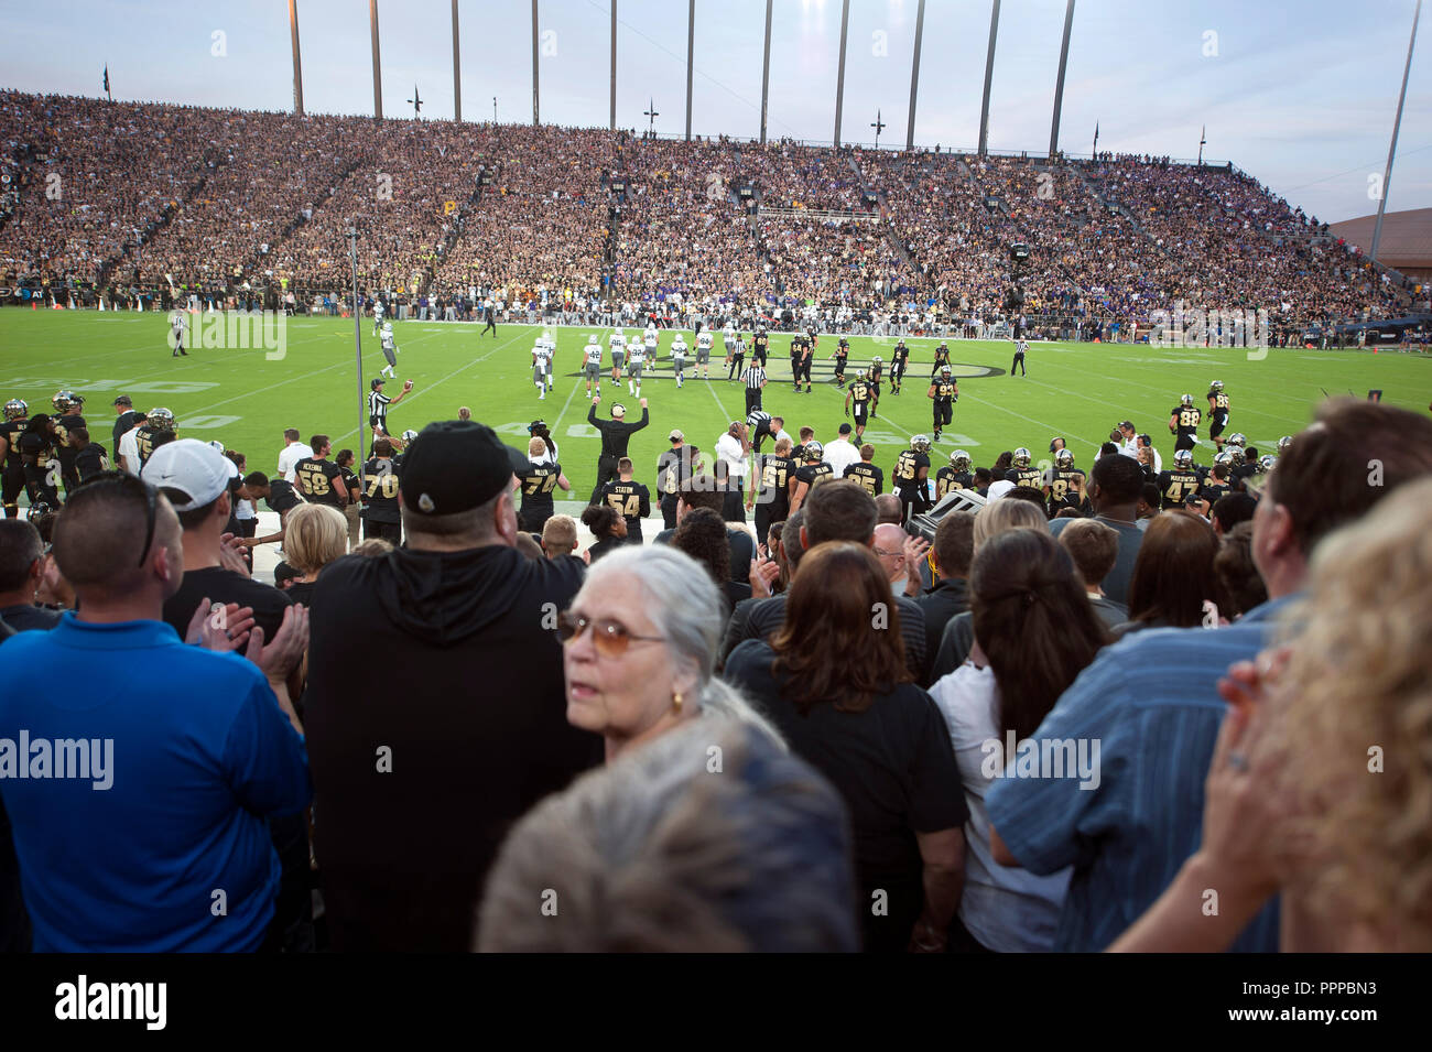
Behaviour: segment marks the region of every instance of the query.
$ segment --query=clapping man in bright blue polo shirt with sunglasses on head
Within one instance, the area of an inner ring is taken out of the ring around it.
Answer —
[[[32,741],[92,744],[72,754],[79,777],[0,779],[37,952],[276,945],[281,867],[266,816],[308,804],[285,687],[306,620],[291,613],[272,641],[262,628],[211,635],[225,648],[248,643],[249,660],[185,646],[160,620],[179,585],[180,538],[169,501],[132,475],[80,487],[54,532],[80,611],[0,647],[0,737],[23,727]],[[209,607],[189,614],[198,640]],[[56,696],[56,668],[73,696]]]

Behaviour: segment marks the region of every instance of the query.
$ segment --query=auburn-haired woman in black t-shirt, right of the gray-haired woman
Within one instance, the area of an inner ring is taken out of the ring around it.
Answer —
[[[736,647],[725,678],[845,797],[865,949],[944,952],[969,812],[944,716],[905,668],[889,583],[865,545],[818,544],[785,607],[770,643]]]

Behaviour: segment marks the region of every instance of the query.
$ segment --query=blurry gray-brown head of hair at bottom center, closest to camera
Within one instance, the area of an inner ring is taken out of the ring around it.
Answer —
[[[709,774],[713,749],[722,777]],[[475,948],[856,950],[846,823],[825,779],[770,736],[690,720],[517,824],[488,877]],[[531,906],[543,889],[561,903],[556,916]]]

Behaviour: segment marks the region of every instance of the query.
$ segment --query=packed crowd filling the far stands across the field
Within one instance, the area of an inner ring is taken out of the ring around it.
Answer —
[[[349,226],[369,295],[465,298],[455,316],[561,289],[567,311],[914,302],[947,321],[1018,309],[1147,332],[1181,301],[1262,308],[1300,335],[1426,299],[1247,175],[1166,157],[1051,165],[16,92],[0,93],[0,281],[46,282],[62,305],[64,286],[115,302],[296,289],[302,309],[347,281]]]

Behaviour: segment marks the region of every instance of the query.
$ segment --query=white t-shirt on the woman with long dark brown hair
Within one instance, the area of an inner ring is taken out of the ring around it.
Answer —
[[[949,727],[949,743],[969,806],[959,920],[982,946],[998,953],[1047,953],[1054,949],[1054,932],[1074,869],[1067,866],[1048,876],[1035,876],[1027,869],[1001,866],[994,860],[985,793],[995,779],[984,771],[987,764],[995,766],[994,757],[1004,759],[1002,749],[994,753],[985,747],[991,740],[1004,744],[994,671],[965,661],[935,683],[929,696]]]

